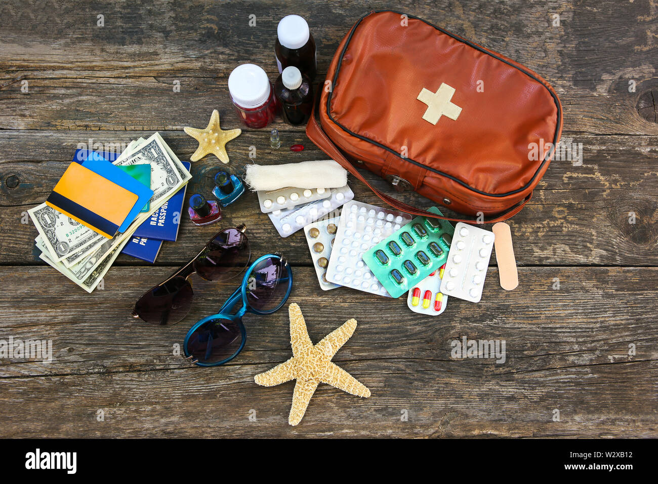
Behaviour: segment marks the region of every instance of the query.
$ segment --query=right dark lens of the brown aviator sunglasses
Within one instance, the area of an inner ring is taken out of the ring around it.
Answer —
[[[249,263],[249,240],[236,229],[224,230],[208,244],[207,250],[194,261],[194,269],[203,279],[232,279]]]

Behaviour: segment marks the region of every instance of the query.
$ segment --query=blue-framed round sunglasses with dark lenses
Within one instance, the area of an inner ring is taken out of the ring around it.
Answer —
[[[270,314],[284,305],[292,290],[290,264],[279,252],[259,257],[242,284],[219,311],[190,328],[183,344],[185,359],[199,366],[217,366],[238,356],[247,340],[242,317],[247,311]],[[240,309],[232,314],[238,304]]]

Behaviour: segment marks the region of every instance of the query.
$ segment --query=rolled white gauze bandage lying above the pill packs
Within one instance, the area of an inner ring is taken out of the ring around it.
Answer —
[[[247,165],[245,182],[251,190],[340,188],[347,185],[347,171],[332,159],[285,165]]]

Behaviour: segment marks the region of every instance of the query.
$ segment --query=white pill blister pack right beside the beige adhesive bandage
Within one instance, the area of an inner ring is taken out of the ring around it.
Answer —
[[[480,302],[495,236],[489,230],[459,222],[443,269],[441,292]]]

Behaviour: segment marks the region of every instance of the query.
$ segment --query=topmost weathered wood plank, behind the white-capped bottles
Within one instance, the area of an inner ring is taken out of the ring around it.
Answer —
[[[278,1],[149,1],[133,7],[53,3],[43,9],[38,2],[5,2],[0,128],[180,129],[197,122],[197,113],[205,119],[213,107],[228,109],[226,79],[235,65],[254,62],[271,78],[277,74],[272,45],[285,11]],[[309,19],[320,72],[349,26],[379,7],[369,1],[295,6]],[[563,99],[566,131],[658,134],[655,117],[638,112],[653,109],[642,99],[658,89],[649,0],[623,8],[615,0],[596,8],[580,1],[443,0],[407,2],[401,9],[542,74]],[[105,15],[105,27],[96,26],[97,14]],[[249,26],[250,14],[256,26]],[[27,93],[21,92],[23,80]],[[173,92],[174,80],[181,82],[180,93]]]

